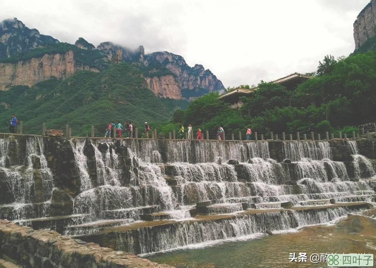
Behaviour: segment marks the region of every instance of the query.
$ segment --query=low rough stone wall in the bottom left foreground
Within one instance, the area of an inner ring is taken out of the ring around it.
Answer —
[[[10,259],[24,267],[33,268],[174,268],[65,237],[55,231],[34,231],[8,220],[0,220],[0,259]]]

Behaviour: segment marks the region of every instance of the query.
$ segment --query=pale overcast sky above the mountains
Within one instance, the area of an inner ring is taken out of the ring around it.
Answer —
[[[349,55],[353,22],[369,0],[18,0],[18,18],[61,42],[112,41],[170,51],[210,69],[225,87],[316,70],[324,55]]]

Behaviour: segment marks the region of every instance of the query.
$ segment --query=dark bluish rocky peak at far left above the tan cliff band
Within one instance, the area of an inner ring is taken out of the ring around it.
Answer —
[[[59,40],[40,34],[36,29],[27,28],[17,18],[5,19],[0,23],[0,58],[9,58],[20,52],[54,43],[59,43]]]

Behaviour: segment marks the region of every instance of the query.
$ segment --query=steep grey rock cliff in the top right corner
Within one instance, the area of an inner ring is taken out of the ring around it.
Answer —
[[[355,49],[374,36],[376,30],[376,0],[371,0],[354,22]]]

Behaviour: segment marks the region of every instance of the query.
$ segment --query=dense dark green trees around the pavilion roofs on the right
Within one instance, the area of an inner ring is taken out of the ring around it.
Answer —
[[[324,135],[342,130],[351,135],[359,130],[347,126],[374,121],[375,66],[375,51],[338,60],[327,56],[318,66],[319,75],[296,90],[261,82],[251,97],[244,98],[240,111],[229,109],[218,94],[211,93],[191,102],[185,111],[175,111],[171,124],[161,127],[192,124],[215,133],[221,125],[228,135],[245,134],[247,126],[259,134],[313,131]]]

